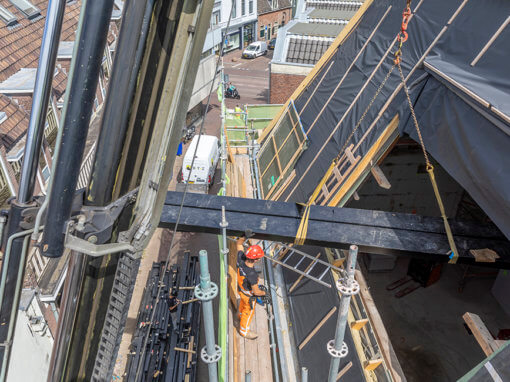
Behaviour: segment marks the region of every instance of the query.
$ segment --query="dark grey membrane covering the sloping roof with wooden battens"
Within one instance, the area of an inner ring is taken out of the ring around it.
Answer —
[[[280,200],[307,201],[344,145],[392,65],[392,42],[400,28],[404,3],[374,1],[294,100],[309,147],[299,158],[296,177]],[[427,150],[510,238],[510,2],[426,0],[413,1],[411,9],[414,16],[409,22],[402,68],[405,76],[414,69],[408,85]],[[348,71],[372,32],[370,42]],[[376,70],[388,48],[388,56]],[[481,58],[472,66],[480,52]],[[350,143],[360,141],[399,84],[395,70]],[[367,153],[396,113],[400,114],[400,133],[417,139],[401,90],[357,154]]]

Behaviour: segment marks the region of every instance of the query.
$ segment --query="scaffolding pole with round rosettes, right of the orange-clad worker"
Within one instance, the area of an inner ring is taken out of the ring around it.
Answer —
[[[359,284],[356,280],[354,280],[357,256],[358,247],[356,245],[351,245],[349,248],[349,255],[347,257],[347,274],[344,277],[339,278],[336,282],[336,287],[342,294],[342,298],[340,299],[340,309],[338,311],[335,339],[329,341],[327,344],[328,352],[331,354],[328,382],[336,381],[338,368],[340,366],[340,358],[345,357],[349,352],[349,349],[344,342],[344,337],[351,296],[358,294],[359,292]]]

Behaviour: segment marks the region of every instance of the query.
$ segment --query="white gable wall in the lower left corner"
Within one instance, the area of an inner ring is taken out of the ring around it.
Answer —
[[[30,322],[31,317],[41,317],[41,322],[34,325]],[[26,311],[18,312],[8,382],[46,381],[52,347],[50,329],[44,321],[37,299],[33,298]]]

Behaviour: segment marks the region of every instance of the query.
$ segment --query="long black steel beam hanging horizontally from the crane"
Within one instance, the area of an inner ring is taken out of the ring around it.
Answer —
[[[182,193],[169,192],[159,226],[174,228]],[[293,242],[303,207],[294,203],[256,199],[187,194],[179,231],[220,234],[221,207],[225,206],[229,235],[251,229],[254,237]],[[500,256],[494,263],[477,263],[510,268],[510,242],[494,226],[451,222],[459,250],[458,263],[475,263],[470,249],[489,248]],[[361,252],[422,257],[448,261],[450,248],[440,218],[412,214],[312,206],[305,244],[348,248],[356,244]]]

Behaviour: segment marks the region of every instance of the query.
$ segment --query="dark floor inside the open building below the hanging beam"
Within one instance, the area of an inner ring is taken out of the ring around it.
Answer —
[[[403,287],[390,292],[386,286],[406,275],[408,261],[400,258],[391,272],[363,269],[370,292],[407,380],[454,381],[485,358],[462,315],[478,314],[493,335],[510,328],[510,317],[490,293],[494,278],[470,278],[459,292],[463,273],[459,265],[445,265],[437,283],[395,298]]]

